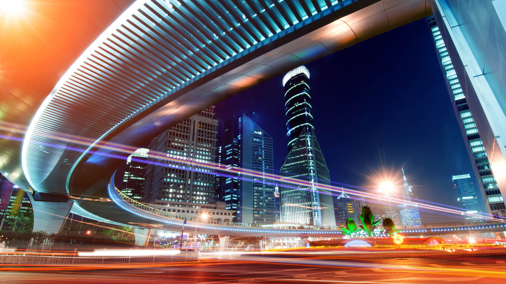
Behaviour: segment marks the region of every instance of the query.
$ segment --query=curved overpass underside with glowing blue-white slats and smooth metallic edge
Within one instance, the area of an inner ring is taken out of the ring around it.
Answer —
[[[104,201],[130,147],[235,93],[432,13],[427,0],[220,3],[134,2],[39,107],[21,149],[23,174],[12,181],[72,196],[96,219],[150,223],[154,217]]]

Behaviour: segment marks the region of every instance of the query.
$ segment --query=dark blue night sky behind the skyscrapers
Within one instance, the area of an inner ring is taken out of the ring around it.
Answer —
[[[377,188],[371,177],[383,169],[399,174],[402,184],[404,165],[420,200],[458,206],[451,176],[475,177],[438,60],[421,19],[305,65],[316,137],[336,185]],[[215,108],[222,121],[257,111],[258,124],[274,139],[276,173],[287,154],[283,76]],[[462,220],[420,215],[422,223]]]

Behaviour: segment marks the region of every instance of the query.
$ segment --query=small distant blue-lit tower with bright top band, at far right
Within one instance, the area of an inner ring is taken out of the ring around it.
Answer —
[[[471,175],[469,173],[452,175],[451,180],[453,181],[453,188],[457,191],[457,201],[460,204],[460,208],[466,213],[481,212]],[[476,218],[478,217],[466,217],[466,219]]]

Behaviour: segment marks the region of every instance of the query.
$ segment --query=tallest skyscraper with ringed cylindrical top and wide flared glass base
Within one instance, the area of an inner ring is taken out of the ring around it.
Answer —
[[[285,89],[288,154],[280,169],[280,215],[282,222],[335,226],[332,195],[318,184],[330,184],[325,159],[313,126],[309,70],[300,66],[289,71]],[[298,179],[305,185],[293,184]]]

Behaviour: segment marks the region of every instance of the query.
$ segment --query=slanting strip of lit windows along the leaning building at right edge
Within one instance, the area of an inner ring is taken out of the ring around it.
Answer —
[[[466,148],[471,157],[473,169],[485,206],[490,209],[492,215],[506,217],[506,205],[504,204],[495,176],[492,173],[490,161],[485,152],[482,138],[476,127],[473,114],[469,109],[466,94],[460,85],[459,78],[457,78],[441,31],[434,20],[434,16],[428,17],[428,21],[436,44],[436,51],[440,57],[441,67],[450,93],[450,99],[457,115],[462,135],[466,141]]]

